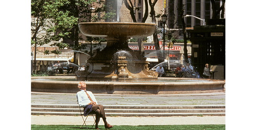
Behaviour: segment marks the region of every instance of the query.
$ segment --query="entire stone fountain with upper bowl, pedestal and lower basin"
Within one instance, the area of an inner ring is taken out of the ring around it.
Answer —
[[[95,50],[94,55],[87,60],[85,71],[78,71],[76,77],[31,77],[31,91],[77,93],[79,91],[77,84],[81,80],[87,80],[88,91],[101,94],[181,94],[225,91],[225,80],[157,78],[157,72],[149,71],[148,61],[143,57],[142,50],[131,50],[127,40],[130,37],[152,35],[156,30],[156,24],[87,22],[79,23],[79,30],[87,36],[104,37],[107,40],[107,46],[101,51]],[[59,80],[53,80],[55,78]],[[74,78],[74,81],[65,78]]]

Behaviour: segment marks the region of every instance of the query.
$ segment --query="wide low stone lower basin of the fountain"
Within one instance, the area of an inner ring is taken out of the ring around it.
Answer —
[[[48,93],[77,93],[80,81],[36,80],[48,77],[31,77],[31,91]],[[75,80],[75,77],[73,77]],[[173,80],[173,82],[164,82]],[[175,81],[184,82],[175,82]],[[102,94],[185,94],[225,91],[225,80],[193,78],[158,78],[158,82],[86,82],[87,90]]]

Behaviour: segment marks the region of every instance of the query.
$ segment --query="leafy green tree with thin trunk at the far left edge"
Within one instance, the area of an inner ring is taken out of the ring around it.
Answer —
[[[68,12],[59,11],[64,0],[31,0],[31,45],[35,47],[34,70],[36,73],[37,46],[41,46],[51,41],[63,44],[60,39],[68,34],[64,32],[66,28],[77,21],[75,17],[68,17]],[[55,23],[58,22],[58,25]],[[62,31],[56,37],[55,32]],[[63,45],[65,46],[65,45]],[[59,53],[58,51],[52,51]]]

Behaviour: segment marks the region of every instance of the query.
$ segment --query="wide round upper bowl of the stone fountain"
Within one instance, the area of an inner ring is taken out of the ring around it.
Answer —
[[[126,22],[82,22],[79,30],[89,37],[146,37],[156,31],[156,24]]]

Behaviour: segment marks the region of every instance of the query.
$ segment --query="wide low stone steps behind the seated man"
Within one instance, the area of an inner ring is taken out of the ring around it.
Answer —
[[[225,105],[104,105],[106,116],[225,116]],[[78,116],[80,110],[74,104],[31,104],[31,115]]]

